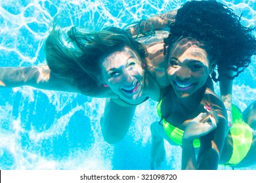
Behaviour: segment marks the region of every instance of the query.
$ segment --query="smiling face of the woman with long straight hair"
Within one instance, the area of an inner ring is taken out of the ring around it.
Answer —
[[[128,103],[136,104],[145,99],[142,62],[131,48],[126,46],[102,59],[102,76],[109,88]]]

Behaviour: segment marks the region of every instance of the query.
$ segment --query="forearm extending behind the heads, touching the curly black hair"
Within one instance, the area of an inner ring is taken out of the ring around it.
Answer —
[[[128,25],[125,27],[125,30],[131,35],[138,35],[141,32],[150,31],[152,26],[154,29],[164,29],[167,28],[171,22],[175,21],[176,14],[177,10],[172,10],[170,12],[152,16],[146,20],[140,20],[140,22]]]

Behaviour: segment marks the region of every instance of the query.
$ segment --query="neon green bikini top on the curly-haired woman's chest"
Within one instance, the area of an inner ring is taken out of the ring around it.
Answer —
[[[165,130],[166,135],[169,137],[169,139],[171,139],[171,141],[181,146],[184,131],[182,129],[179,129],[179,127],[175,127],[174,125],[170,124],[165,120],[165,118],[161,116],[161,101],[158,103],[157,110],[158,110],[158,116],[161,118],[160,122],[163,122],[163,128]],[[195,139],[193,141],[193,146],[194,148],[199,148],[200,140]]]

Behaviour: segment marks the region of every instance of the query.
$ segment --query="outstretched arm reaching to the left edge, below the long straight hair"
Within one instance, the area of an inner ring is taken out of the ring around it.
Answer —
[[[103,86],[93,88],[93,92],[86,92],[91,90],[91,88],[81,89],[72,86],[62,80],[62,78],[53,75],[48,65],[35,67],[0,67],[0,88],[14,88],[19,86],[32,86],[43,90],[59,92],[81,93],[89,97],[116,97],[116,94],[110,88]]]

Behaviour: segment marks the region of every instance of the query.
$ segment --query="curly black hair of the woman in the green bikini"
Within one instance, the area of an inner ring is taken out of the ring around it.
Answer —
[[[175,22],[170,24],[170,34],[165,45],[171,45],[179,37],[192,37],[207,45],[215,59],[219,77],[214,72],[213,80],[222,76],[234,79],[251,63],[256,54],[255,27],[245,27],[241,16],[217,1],[189,1],[177,11]],[[232,69],[230,77],[225,71]]]

